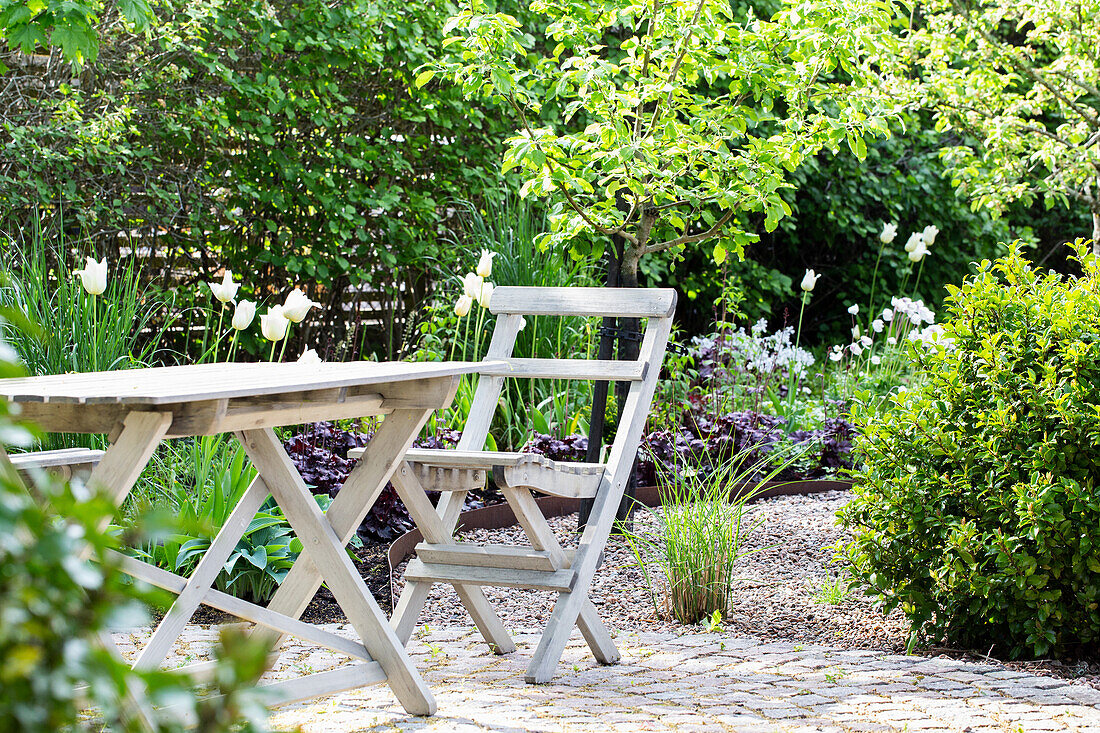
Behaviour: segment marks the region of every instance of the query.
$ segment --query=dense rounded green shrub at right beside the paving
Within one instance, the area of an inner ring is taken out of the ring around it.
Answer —
[[[945,344],[911,347],[920,383],[864,433],[851,571],[922,638],[1013,657],[1100,642],[1100,270],[1014,247],[949,287]]]

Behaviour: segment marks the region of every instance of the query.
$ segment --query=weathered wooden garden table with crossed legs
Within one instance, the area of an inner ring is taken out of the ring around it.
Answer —
[[[158,667],[200,603],[260,625],[277,647],[294,635],[354,661],[264,686],[273,703],[387,682],[405,709],[429,715],[436,701],[344,549],[431,413],[450,403],[462,374],[482,364],[201,364],[0,380],[0,398],[51,433],[106,433],[110,447],[88,479],[121,504],[167,438],[233,433],[258,475],[190,578],[116,554],[135,578],[177,594],[135,667]],[[327,513],[322,513],[273,430],[322,419],[385,415]],[[271,494],[305,547],[266,608],[211,588]],[[360,641],[299,619],[328,583]],[[185,667],[201,679],[211,663]]]

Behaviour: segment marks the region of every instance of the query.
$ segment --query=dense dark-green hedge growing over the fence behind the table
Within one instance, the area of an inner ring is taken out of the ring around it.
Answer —
[[[297,331],[310,346],[318,331],[344,337],[341,299],[410,310],[446,200],[499,185],[510,130],[449,85],[410,91],[448,6],[154,9],[144,36],[102,24],[78,77],[47,57],[4,57],[0,228],[45,210],[100,254],[156,245],[165,285],[187,292],[220,266],[274,297],[302,283],[326,306]]]

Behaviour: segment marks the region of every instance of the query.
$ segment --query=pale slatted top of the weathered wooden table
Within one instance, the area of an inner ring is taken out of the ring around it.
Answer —
[[[14,403],[167,405],[458,376],[497,362],[217,363],[0,380]]]

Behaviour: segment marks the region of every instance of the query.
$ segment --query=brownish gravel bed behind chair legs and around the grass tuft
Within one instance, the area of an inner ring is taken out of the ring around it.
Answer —
[[[883,616],[861,597],[846,595],[838,603],[817,597],[835,580],[833,546],[844,538],[835,522],[836,511],[850,497],[846,491],[801,496],[781,496],[752,504],[747,516],[763,521],[748,537],[754,550],[738,564],[732,613],[726,631],[762,638],[813,642],[853,648],[901,650],[906,633],[900,613]],[[550,519],[563,547],[575,547],[576,515]],[[635,515],[635,532],[653,536],[659,526],[650,511]],[[526,544],[518,527],[477,529],[461,535],[466,541]],[[395,591],[403,587],[405,566],[395,573]],[[486,588],[504,622],[515,628],[538,628],[549,619],[553,593],[507,588]],[[592,600],[613,628],[672,631],[682,625],[661,608],[661,592],[653,593],[637,566],[629,544],[612,537],[604,564],[596,573]],[[837,600],[837,599],[832,599]],[[429,627],[468,624],[469,616],[450,586],[437,584],[420,614]]]

